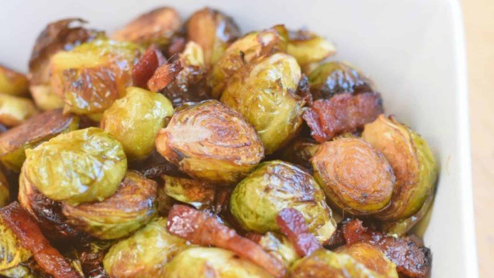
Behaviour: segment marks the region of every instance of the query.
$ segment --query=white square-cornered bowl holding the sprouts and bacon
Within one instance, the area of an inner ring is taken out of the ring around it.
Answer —
[[[108,31],[158,5],[183,16],[205,5],[232,15],[243,31],[285,23],[336,43],[337,58],[371,77],[388,114],[431,145],[441,166],[424,239],[432,277],[478,277],[472,206],[465,46],[455,0],[51,0],[2,1],[0,63],[26,70],[45,24],[82,17]]]

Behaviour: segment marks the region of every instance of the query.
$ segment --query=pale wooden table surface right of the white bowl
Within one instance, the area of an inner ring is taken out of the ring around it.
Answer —
[[[470,135],[480,277],[494,271],[494,1],[461,0],[470,87]]]

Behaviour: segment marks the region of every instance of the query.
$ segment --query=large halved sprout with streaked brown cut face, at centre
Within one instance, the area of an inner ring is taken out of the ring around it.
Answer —
[[[238,182],[264,156],[252,126],[240,113],[216,100],[175,113],[158,134],[156,147],[181,171],[215,184]]]

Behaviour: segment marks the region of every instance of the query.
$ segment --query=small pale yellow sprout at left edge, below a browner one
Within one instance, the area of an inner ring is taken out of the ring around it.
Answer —
[[[17,126],[38,113],[31,99],[0,93],[0,124]]]

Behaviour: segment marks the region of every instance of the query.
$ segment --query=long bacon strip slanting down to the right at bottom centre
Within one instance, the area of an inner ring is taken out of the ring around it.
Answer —
[[[205,212],[185,205],[174,205],[168,214],[168,232],[194,244],[213,245],[231,250],[264,268],[274,277],[284,277],[282,262],[266,253],[261,246],[220,224]]]

